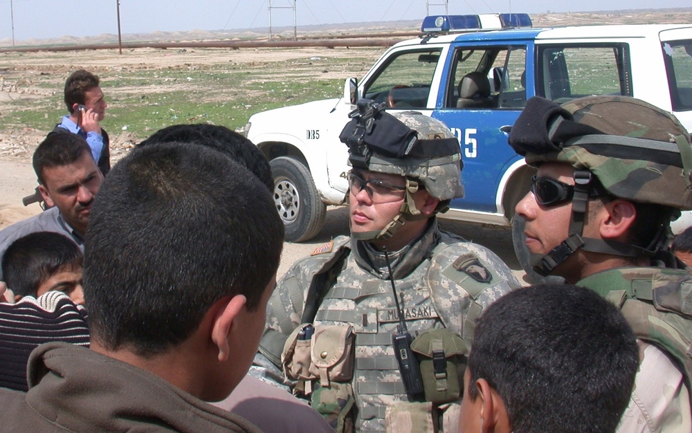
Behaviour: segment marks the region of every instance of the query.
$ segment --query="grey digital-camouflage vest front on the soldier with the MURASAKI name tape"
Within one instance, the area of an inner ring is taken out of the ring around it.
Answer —
[[[419,266],[396,282],[401,315],[413,335],[441,326],[424,280],[427,268]],[[391,282],[365,272],[349,257],[345,270],[323,298],[315,323],[354,326],[356,430],[384,432],[385,408],[408,401],[392,346],[399,317]]]

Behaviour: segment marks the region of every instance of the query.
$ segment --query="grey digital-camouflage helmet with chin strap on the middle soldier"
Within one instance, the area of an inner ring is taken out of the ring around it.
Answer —
[[[385,104],[358,101],[340,140],[349,147],[349,165],[406,178],[406,199],[399,215],[381,232],[354,234],[358,239],[386,239],[399,225],[421,218],[413,195],[419,188],[439,200],[445,212],[451,199],[464,196],[459,140],[443,122],[417,111],[387,113]]]

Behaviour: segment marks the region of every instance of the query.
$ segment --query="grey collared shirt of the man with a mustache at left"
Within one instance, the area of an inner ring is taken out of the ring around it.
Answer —
[[[51,208],[0,230],[0,260],[5,251],[20,237],[33,232],[55,232],[72,239],[84,251],[84,238],[65,221],[58,208]],[[2,280],[2,269],[0,269]]]

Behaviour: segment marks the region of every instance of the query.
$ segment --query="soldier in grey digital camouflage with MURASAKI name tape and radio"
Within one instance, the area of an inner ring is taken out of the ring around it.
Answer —
[[[256,365],[282,369],[336,430],[439,431],[457,422],[475,319],[520,284],[489,249],[438,228],[463,195],[444,123],[367,100],[351,117],[352,236],[277,284]]]

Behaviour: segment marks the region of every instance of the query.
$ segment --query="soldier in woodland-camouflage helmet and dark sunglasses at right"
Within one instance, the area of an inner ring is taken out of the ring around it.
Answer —
[[[692,275],[668,250],[671,220],[692,209],[689,134],[634,98],[535,97],[509,144],[538,168],[516,206],[536,272],[603,295],[637,335],[618,432],[692,431]]]

